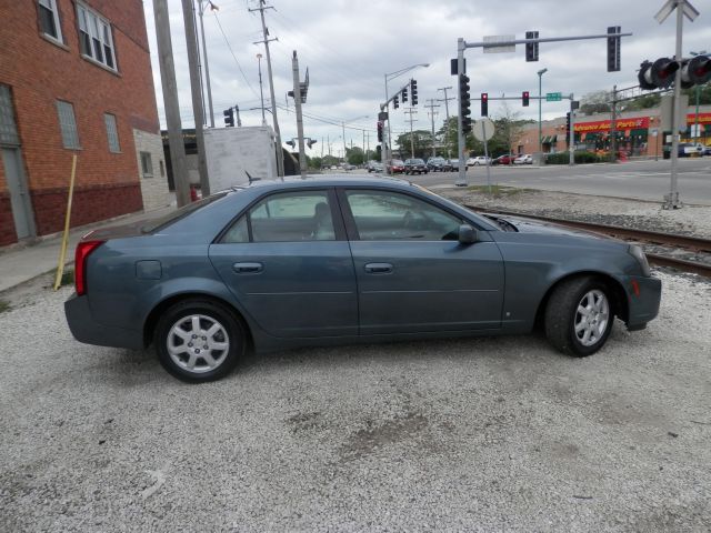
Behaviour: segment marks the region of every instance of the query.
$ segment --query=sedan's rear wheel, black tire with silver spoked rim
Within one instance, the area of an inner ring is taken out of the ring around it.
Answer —
[[[197,323],[193,316],[198,318]],[[202,336],[196,331],[196,324],[200,330],[208,329],[202,330]],[[219,329],[208,339],[210,329],[216,324]],[[188,344],[192,339],[183,339],[182,334],[176,333],[177,329],[204,344]],[[176,303],[161,315],[153,341],[158,360],[170,374],[181,381],[199,383],[224,378],[234,369],[244,353],[247,334],[241,321],[223,305],[209,300],[189,299]],[[217,348],[224,343],[224,349]],[[181,349],[182,352],[171,354],[169,344],[173,345],[173,352]],[[206,350],[204,346],[209,348]],[[191,361],[192,369],[189,368]]]

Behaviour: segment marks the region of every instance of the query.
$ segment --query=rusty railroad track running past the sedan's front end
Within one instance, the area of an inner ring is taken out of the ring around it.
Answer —
[[[691,252],[711,252],[711,240],[701,239],[698,237],[677,235],[673,233],[663,233],[659,231],[647,230],[632,230],[630,228],[622,228],[619,225],[610,224],[595,224],[593,222],[581,222],[578,220],[557,219],[553,217],[540,217],[529,213],[520,213],[515,211],[505,210],[491,210],[482,205],[467,204],[465,208],[472,209],[479,213],[489,214],[508,214],[511,217],[521,217],[532,220],[541,220],[545,222],[553,222],[555,224],[565,225],[569,228],[577,228],[581,230],[592,231],[595,233],[602,233],[617,239],[627,241],[635,241],[644,244],[654,244],[658,247],[683,249]],[[711,278],[711,264],[700,261],[689,261],[685,259],[674,258],[672,255],[662,255],[659,253],[647,253],[647,259],[650,263],[658,266],[671,266],[682,270],[684,272],[692,272],[707,278]]]

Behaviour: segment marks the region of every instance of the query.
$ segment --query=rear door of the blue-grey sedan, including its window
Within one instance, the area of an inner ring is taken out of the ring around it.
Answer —
[[[356,274],[332,190],[261,198],[210,247],[210,259],[269,334],[358,334]]]

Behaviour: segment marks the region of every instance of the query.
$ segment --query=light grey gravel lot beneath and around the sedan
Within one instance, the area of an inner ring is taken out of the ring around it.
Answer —
[[[0,531],[708,531],[711,285],[658,275],[589,359],[347,346],[207,385],[79,344],[38,280],[1,295]]]

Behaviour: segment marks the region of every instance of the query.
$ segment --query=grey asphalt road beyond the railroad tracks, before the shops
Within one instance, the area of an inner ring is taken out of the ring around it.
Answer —
[[[671,163],[634,161],[619,164],[549,167],[491,167],[493,184],[580,194],[662,201],[670,189]],[[422,185],[452,184],[455,173],[429,173],[411,180]],[[470,185],[487,184],[487,170],[473,167],[467,172]],[[679,198],[684,203],[711,205],[711,158],[679,161]]]

